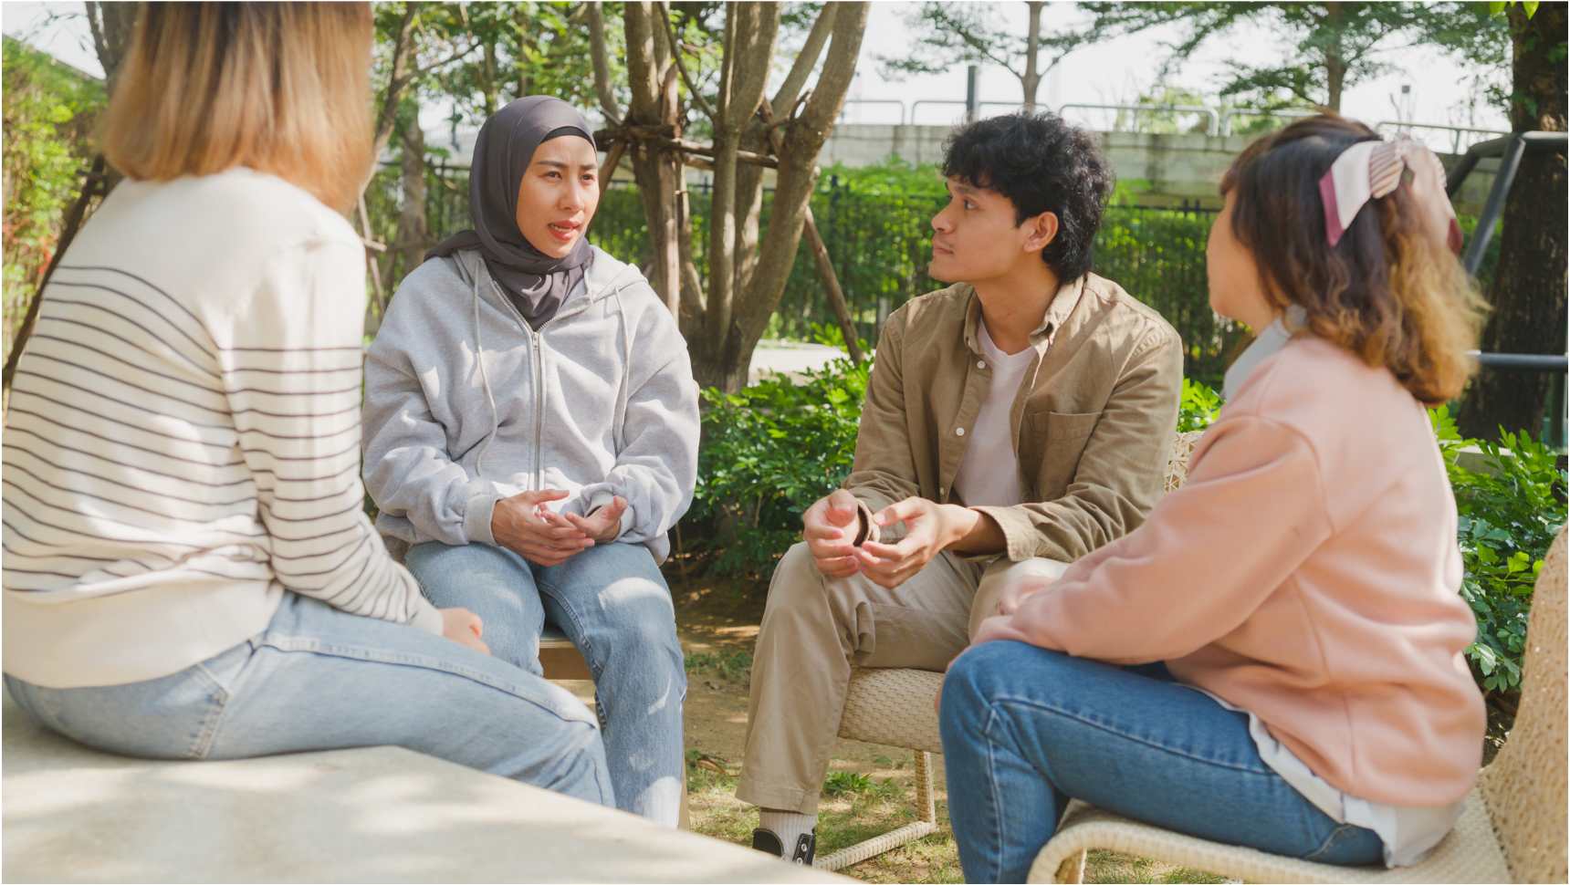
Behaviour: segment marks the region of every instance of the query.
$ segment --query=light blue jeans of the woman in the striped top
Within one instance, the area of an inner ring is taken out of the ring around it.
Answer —
[[[614,803],[600,731],[570,692],[422,629],[289,592],[265,631],[168,676],[5,684],[44,727],[127,756],[240,759],[392,744]]]

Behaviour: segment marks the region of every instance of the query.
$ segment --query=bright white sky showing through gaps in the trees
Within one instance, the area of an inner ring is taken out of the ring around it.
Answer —
[[[926,104],[964,102],[962,67],[903,80],[884,77],[879,71],[879,56],[898,55],[914,42],[914,35],[904,22],[914,6],[917,5],[901,0],[873,3],[843,121],[898,122],[901,108],[890,102],[901,102],[903,113],[911,122],[948,124],[962,113],[959,104]],[[997,3],[997,9],[1010,22],[1017,22],[1024,31],[1025,3]],[[50,14],[57,19],[46,24]],[[64,17],[60,17],[63,14]],[[1042,28],[1063,27],[1079,14],[1071,3],[1049,3],[1042,14]],[[39,49],[69,64],[102,74],[86,19],[82,16],[82,3],[5,3],[0,6],[0,28],[11,36],[27,36]],[[1156,86],[1157,69],[1167,58],[1162,44],[1173,36],[1171,30],[1151,30],[1079,49],[1047,75],[1038,93],[1038,102],[1052,108],[1064,104],[1130,104]],[[1167,85],[1209,96],[1206,104],[1217,105],[1218,77],[1225,71],[1225,63],[1234,56],[1243,63],[1269,61],[1272,46],[1270,35],[1262,28],[1240,31],[1225,42],[1212,41],[1193,53]],[[1473,72],[1446,55],[1427,47],[1407,47],[1391,50],[1382,58],[1393,64],[1396,72],[1349,89],[1341,105],[1344,115],[1369,124],[1405,119],[1509,129],[1502,108],[1482,104],[1474,96]],[[1019,80],[997,66],[981,67],[978,86],[983,102],[1014,104],[1020,99]],[[1405,97],[1402,86],[1410,89]],[[917,100],[923,104],[914,107]],[[1405,113],[1397,111],[1397,104]],[[430,116],[441,119],[446,113],[432,108]],[[1110,111],[1071,108],[1066,116],[1088,126],[1096,126],[1097,121],[1105,126],[1110,121]],[[1435,148],[1449,144],[1446,133],[1426,133],[1426,140]]]

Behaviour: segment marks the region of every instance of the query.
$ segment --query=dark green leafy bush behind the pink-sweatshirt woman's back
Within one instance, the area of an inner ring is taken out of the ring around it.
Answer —
[[[1429,417],[1460,513],[1462,596],[1477,615],[1466,659],[1485,692],[1518,690],[1532,588],[1565,523],[1565,471],[1553,449],[1526,433],[1501,430],[1498,442],[1463,439],[1446,406]],[[1462,466],[1468,447],[1481,452],[1481,469]]]

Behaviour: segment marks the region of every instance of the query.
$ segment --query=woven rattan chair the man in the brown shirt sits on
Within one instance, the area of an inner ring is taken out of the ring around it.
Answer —
[[[1178,433],[1167,461],[1165,491],[1182,485],[1188,475],[1188,455],[1199,433]],[[840,738],[904,747],[915,752],[915,822],[873,836],[827,857],[815,866],[843,869],[885,850],[896,849],[937,830],[937,808],[933,802],[933,753],[942,753],[937,736],[937,711],[933,698],[944,684],[942,673],[904,668],[859,668],[851,673]]]

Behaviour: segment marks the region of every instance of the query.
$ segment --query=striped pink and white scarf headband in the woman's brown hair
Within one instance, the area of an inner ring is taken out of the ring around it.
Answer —
[[[1331,163],[1319,179],[1319,196],[1325,202],[1325,239],[1334,248],[1352,226],[1352,220],[1369,199],[1394,191],[1402,179],[1411,182],[1418,204],[1424,207],[1426,224],[1455,254],[1462,251],[1462,228],[1455,209],[1444,193],[1444,165],[1422,144],[1399,137],[1393,141],[1358,141]],[[1443,229],[1441,229],[1443,224]]]

